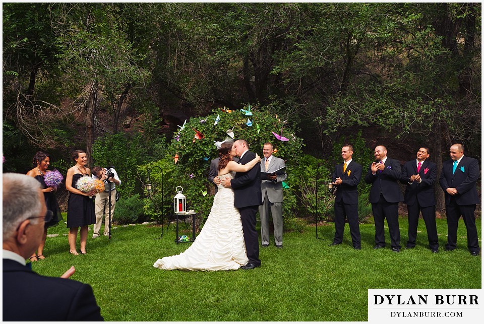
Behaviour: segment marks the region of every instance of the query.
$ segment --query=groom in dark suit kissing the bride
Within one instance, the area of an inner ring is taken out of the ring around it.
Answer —
[[[249,151],[249,145],[246,140],[236,140],[233,143],[232,150],[240,158],[240,164],[246,164],[256,157],[255,153]],[[233,205],[240,212],[247,257],[249,258],[249,263],[241,268],[248,270],[260,267],[256,213],[259,210],[259,205],[262,205],[261,167],[256,164],[250,171],[237,172],[235,178],[224,178],[221,182],[224,187],[231,186],[233,188]]]

